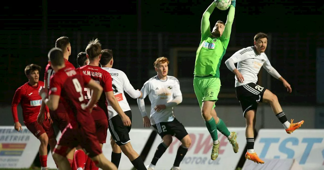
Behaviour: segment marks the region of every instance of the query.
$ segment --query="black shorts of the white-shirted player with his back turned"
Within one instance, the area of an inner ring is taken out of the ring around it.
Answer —
[[[125,111],[125,114],[132,121],[132,111],[131,110]],[[114,139],[114,141],[118,146],[131,142],[128,133],[131,131],[132,125],[124,126],[121,117],[119,115],[116,115],[109,120],[108,128],[112,138]]]

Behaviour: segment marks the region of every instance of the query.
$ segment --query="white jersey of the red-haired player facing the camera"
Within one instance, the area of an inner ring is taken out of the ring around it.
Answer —
[[[157,76],[150,78],[145,82],[141,89],[144,99],[147,95],[151,101],[151,124],[154,125],[160,122],[170,122],[174,120],[173,108],[166,108],[156,112],[156,105],[165,105],[173,100],[175,96],[181,96],[180,85],[177,78],[167,76],[167,80],[158,79]]]

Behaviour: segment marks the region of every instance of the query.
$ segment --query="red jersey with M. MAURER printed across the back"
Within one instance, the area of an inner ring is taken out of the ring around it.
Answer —
[[[91,65],[85,65],[83,67],[80,67],[80,70],[82,73],[88,77],[91,77],[93,80],[95,80],[98,84],[100,84],[103,87],[103,93],[100,96],[100,99],[97,103],[97,105],[92,110],[92,117],[94,120],[101,120],[101,119],[107,119],[108,118],[108,108],[107,108],[107,100],[105,92],[112,91],[112,79],[110,74],[103,70],[99,66],[91,66]],[[87,94],[85,97],[87,100],[91,98],[91,91],[90,89],[85,89],[85,94]]]

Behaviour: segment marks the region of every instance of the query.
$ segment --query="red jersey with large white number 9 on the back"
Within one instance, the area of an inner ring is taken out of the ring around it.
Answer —
[[[83,89],[91,80],[73,67],[64,67],[51,76],[49,95],[61,96],[64,107],[70,118],[72,127],[78,128],[80,121],[90,116],[89,110],[84,108],[87,101],[83,96]]]

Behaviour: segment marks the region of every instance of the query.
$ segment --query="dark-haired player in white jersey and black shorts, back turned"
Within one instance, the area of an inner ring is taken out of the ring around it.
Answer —
[[[124,72],[112,68],[113,63],[112,51],[108,49],[102,50],[100,59],[101,68],[110,73],[113,93],[121,106],[122,111],[132,121],[132,111],[129,107],[124,91],[134,99],[142,97],[142,92],[134,89]],[[136,153],[136,151],[134,151],[131,145],[131,139],[129,138],[128,133],[132,126],[124,126],[121,116],[118,115],[110,105],[108,105],[108,115],[109,130],[111,134],[110,144],[112,147],[111,162],[118,168],[122,151],[137,170],[146,170],[142,158]]]

